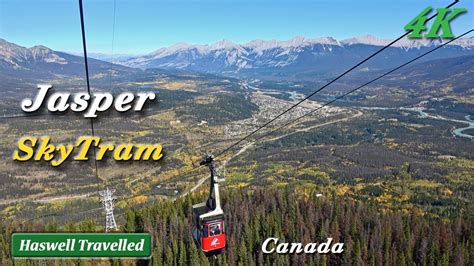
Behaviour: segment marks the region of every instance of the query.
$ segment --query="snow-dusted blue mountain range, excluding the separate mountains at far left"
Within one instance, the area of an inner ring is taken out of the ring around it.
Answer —
[[[331,37],[295,37],[287,41],[253,40],[246,44],[229,40],[211,45],[178,43],[117,62],[142,69],[183,69],[230,76],[319,77],[347,69],[390,42],[366,35],[342,41]],[[440,43],[441,40],[402,39],[367,62],[362,70],[401,64]],[[426,60],[473,54],[474,38],[465,38],[450,43]]]

